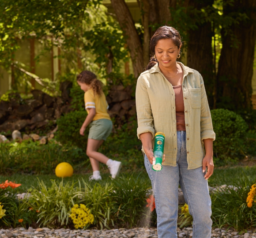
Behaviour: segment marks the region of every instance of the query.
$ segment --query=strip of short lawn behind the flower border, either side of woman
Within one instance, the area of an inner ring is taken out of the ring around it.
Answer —
[[[133,176],[137,176],[140,172],[136,171]],[[64,178],[63,182],[78,182],[78,180],[84,180],[89,182],[89,177],[91,173],[88,174],[74,174],[72,177]],[[106,182],[110,182],[109,173],[102,173],[102,181],[100,184],[105,185]],[[121,173],[124,178],[128,178],[131,173]],[[253,167],[230,167],[230,168],[216,168],[213,175],[210,179],[208,179],[209,186],[221,186],[223,184],[226,185],[234,185],[237,180],[239,180],[243,175],[246,175],[248,180],[253,181],[256,180],[256,166]],[[151,185],[150,179],[148,178],[146,170],[141,171],[141,179],[147,180],[148,184]],[[15,189],[17,193],[26,192],[32,186],[38,189],[38,180],[42,180],[47,187],[51,186],[51,179],[55,179],[57,182],[60,182],[62,179],[56,177],[54,174],[52,175],[0,175],[0,182],[4,182],[5,180],[9,180],[16,183],[21,183],[22,186]],[[94,182],[90,182],[94,183]]]

